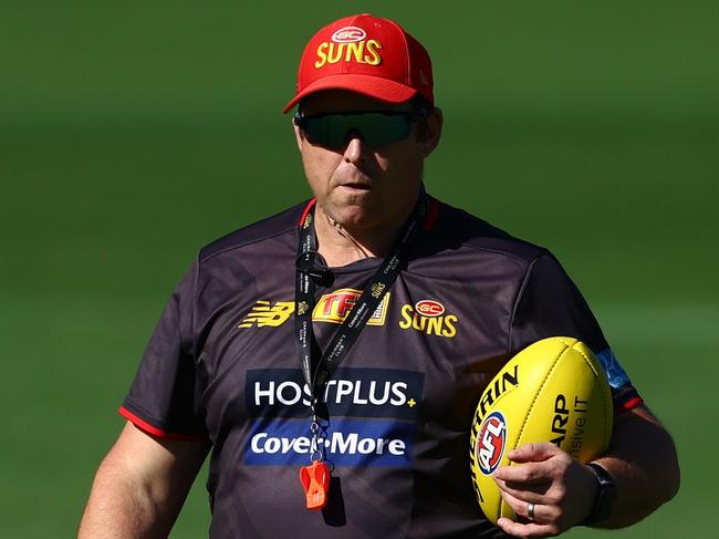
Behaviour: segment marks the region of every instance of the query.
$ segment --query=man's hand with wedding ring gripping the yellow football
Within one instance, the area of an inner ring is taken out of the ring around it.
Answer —
[[[584,520],[594,505],[598,485],[594,474],[554,444],[524,444],[509,453],[519,466],[502,466],[494,480],[517,522],[497,522],[510,536],[551,537]],[[530,519],[529,505],[534,504]]]

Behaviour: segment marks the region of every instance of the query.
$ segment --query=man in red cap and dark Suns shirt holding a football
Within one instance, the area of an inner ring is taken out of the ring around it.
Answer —
[[[546,537],[670,499],[671,439],[556,260],[424,191],[442,125],[425,49],[385,19],[335,21],[304,51],[295,104],[314,198],[200,251],[80,536],[166,536],[210,449],[213,538]],[[471,488],[472,413],[551,335],[608,370],[612,447],[592,467],[552,444],[512,452],[528,464],[496,473],[518,515],[499,529]]]

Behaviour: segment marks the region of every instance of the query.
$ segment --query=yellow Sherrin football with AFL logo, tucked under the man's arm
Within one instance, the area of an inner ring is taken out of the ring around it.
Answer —
[[[512,357],[482,393],[472,421],[471,478],[493,524],[514,518],[492,474],[529,442],[552,442],[585,463],[606,452],[614,416],[602,365],[586,344],[567,336],[538,341]]]

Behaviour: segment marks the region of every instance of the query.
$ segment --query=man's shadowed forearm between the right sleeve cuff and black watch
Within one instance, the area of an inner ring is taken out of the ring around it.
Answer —
[[[642,520],[679,489],[674,442],[652,414],[638,408],[615,425],[612,447],[596,460],[616,484],[616,502],[600,528],[622,528]]]

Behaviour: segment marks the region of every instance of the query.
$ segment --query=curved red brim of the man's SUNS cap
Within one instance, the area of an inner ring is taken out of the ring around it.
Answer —
[[[305,86],[284,108],[286,113],[302,99],[322,90],[348,90],[387,103],[404,103],[417,94],[417,90],[395,81],[371,75],[338,74],[324,76]]]

